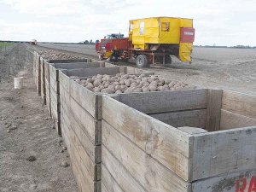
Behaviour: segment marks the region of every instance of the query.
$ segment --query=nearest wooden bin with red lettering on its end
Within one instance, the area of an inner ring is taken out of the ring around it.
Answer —
[[[102,191],[253,191],[255,107],[229,90],[103,96]]]

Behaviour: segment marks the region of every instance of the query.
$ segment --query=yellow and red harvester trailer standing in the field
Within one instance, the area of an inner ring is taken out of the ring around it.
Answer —
[[[173,17],[153,17],[130,20],[129,38],[102,39],[96,51],[102,59],[137,59],[138,67],[154,62],[172,63],[170,55],[191,62],[195,29],[193,20]],[[103,49],[102,49],[103,48]]]

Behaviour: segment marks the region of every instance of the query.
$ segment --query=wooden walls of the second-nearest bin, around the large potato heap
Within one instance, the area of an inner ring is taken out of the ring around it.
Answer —
[[[102,94],[86,89],[69,76],[86,79],[96,74],[127,73],[127,67],[107,66],[59,72],[62,137],[80,191],[101,191]]]

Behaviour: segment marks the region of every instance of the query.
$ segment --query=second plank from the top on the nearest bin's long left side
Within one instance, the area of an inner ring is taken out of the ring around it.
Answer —
[[[144,188],[144,190],[139,190],[137,185],[137,190],[135,191],[189,191],[189,183],[185,182],[181,177],[178,177],[174,172],[166,169],[166,166],[163,166],[159,159],[155,160],[152,155],[147,154],[142,148],[138,148],[136,143],[132,143],[131,140],[124,137],[103,119],[102,146],[108,148],[109,152],[119,160],[127,172]],[[102,159],[106,158],[108,155],[104,153],[106,153],[105,149],[104,151],[102,150]],[[110,160],[104,160],[104,163],[111,162]],[[105,164],[104,166],[110,171],[109,166]],[[114,169],[114,167],[112,169]],[[119,171],[122,172],[121,170]],[[118,177],[114,178],[119,179]],[[130,181],[131,179],[129,179],[127,183],[124,181],[124,183],[119,183],[119,185],[122,189],[130,189],[131,186],[135,184],[130,183]],[[122,184],[125,186],[122,186]]]

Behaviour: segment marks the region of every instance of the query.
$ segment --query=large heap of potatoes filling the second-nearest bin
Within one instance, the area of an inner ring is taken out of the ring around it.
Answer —
[[[108,94],[195,89],[195,86],[184,84],[183,82],[158,77],[156,75],[146,77],[145,74],[141,74],[138,77],[125,73],[118,73],[113,77],[106,74],[98,74],[87,80],[74,80],[88,90]]]

